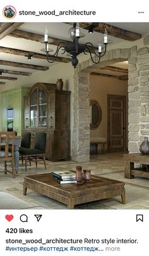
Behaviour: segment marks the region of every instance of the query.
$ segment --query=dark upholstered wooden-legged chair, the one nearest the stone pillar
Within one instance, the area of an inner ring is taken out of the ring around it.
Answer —
[[[37,162],[44,161],[44,166],[46,169],[45,147],[46,133],[37,132],[35,133],[35,146],[33,149],[26,149],[23,147],[19,149],[20,155],[25,158],[25,172],[27,172],[27,162],[35,162],[35,165],[37,167]]]

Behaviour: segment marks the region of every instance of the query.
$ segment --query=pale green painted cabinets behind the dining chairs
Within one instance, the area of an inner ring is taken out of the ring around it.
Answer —
[[[13,130],[21,135],[24,128],[25,95],[28,91],[30,88],[20,87],[1,92],[1,131],[8,131],[8,109],[13,109]]]

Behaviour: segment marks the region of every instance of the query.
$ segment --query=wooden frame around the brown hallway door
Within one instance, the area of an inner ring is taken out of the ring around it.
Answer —
[[[123,149],[122,152],[126,152],[126,95],[112,95],[107,94],[107,152],[110,152],[110,98],[111,97],[121,97],[123,100],[123,128],[122,128],[122,134],[123,134]]]

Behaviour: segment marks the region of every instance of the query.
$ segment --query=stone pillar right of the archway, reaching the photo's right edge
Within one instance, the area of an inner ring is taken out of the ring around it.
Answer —
[[[149,136],[149,37],[143,38],[145,46],[131,48],[129,58],[129,152],[140,152],[143,137]]]

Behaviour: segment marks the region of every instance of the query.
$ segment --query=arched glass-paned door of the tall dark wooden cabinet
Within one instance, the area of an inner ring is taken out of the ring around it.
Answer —
[[[30,127],[47,128],[47,93],[40,87],[30,97]]]

